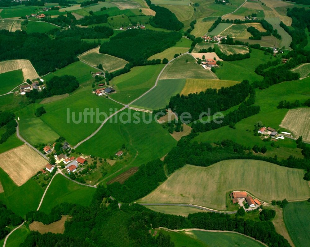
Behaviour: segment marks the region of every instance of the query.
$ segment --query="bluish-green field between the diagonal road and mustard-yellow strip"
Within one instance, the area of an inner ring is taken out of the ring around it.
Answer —
[[[180,93],[185,86],[186,79],[165,79],[158,80],[157,86],[131,106],[154,110],[166,107],[171,96]]]

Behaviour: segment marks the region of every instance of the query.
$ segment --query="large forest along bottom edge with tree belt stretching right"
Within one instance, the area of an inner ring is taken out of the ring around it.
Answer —
[[[26,219],[29,224],[34,220],[48,224],[59,220],[64,214],[69,215],[70,220],[65,223],[63,234],[30,232],[20,246],[174,246],[169,236],[160,234],[155,238],[149,234],[149,229],[158,227],[236,231],[271,247],[290,246],[275,231],[266,214],[264,221],[256,222],[219,213],[195,213],[183,217],[155,212],[139,204],[122,203],[119,208],[117,199],[111,200],[109,196],[109,190],[99,186],[89,207],[62,203],[54,207],[49,215],[40,211],[28,213]]]

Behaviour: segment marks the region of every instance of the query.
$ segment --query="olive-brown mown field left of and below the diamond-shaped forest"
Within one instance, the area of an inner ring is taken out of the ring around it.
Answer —
[[[109,72],[122,69],[128,63],[124,59],[99,53],[99,48],[100,47],[91,49],[80,55],[78,58],[81,61],[91,64],[92,66],[98,66],[99,64],[102,64],[104,70],[108,70]]]

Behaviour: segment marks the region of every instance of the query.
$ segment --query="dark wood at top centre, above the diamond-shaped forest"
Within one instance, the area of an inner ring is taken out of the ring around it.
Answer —
[[[155,16],[150,20],[150,24],[156,28],[165,28],[168,30],[178,31],[184,27],[184,24],[178,20],[174,13],[170,10],[154,5],[150,0],[146,0],[146,3],[156,12]]]

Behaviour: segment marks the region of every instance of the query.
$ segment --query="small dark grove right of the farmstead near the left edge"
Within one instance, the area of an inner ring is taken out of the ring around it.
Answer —
[[[34,103],[37,99],[71,93],[79,86],[80,83],[73,75],[54,76],[46,82],[46,88],[43,88],[42,91],[32,90],[26,93],[26,97],[30,99],[31,103]]]

